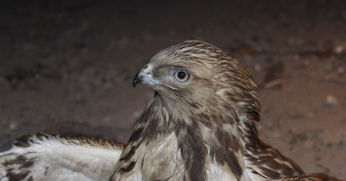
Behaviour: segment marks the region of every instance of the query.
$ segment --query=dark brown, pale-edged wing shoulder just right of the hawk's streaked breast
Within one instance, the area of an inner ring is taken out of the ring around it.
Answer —
[[[245,149],[244,161],[250,177],[271,180],[287,176],[305,175],[298,164],[258,139],[256,151]]]

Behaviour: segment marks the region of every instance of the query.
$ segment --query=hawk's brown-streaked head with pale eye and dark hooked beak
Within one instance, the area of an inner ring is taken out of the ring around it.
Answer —
[[[257,85],[245,67],[205,42],[188,40],[156,53],[140,70],[133,86],[152,87],[172,107],[199,112],[259,112]]]

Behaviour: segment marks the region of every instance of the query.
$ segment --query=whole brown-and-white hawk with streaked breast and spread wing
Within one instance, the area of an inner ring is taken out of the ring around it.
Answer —
[[[0,153],[0,181],[336,180],[304,175],[258,138],[253,76],[215,46],[190,40],[164,49],[136,74],[138,83],[155,96],[125,147],[92,138],[22,137]]]

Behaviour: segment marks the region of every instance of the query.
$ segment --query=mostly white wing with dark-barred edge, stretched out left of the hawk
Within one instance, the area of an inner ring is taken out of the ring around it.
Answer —
[[[0,181],[109,180],[124,146],[85,137],[22,136],[0,153]]]

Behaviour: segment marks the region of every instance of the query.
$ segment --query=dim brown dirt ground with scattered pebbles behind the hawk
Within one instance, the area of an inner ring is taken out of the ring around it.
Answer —
[[[186,39],[240,60],[260,137],[346,179],[346,1],[0,1],[0,151],[23,134],[126,142],[153,91],[132,80]]]

